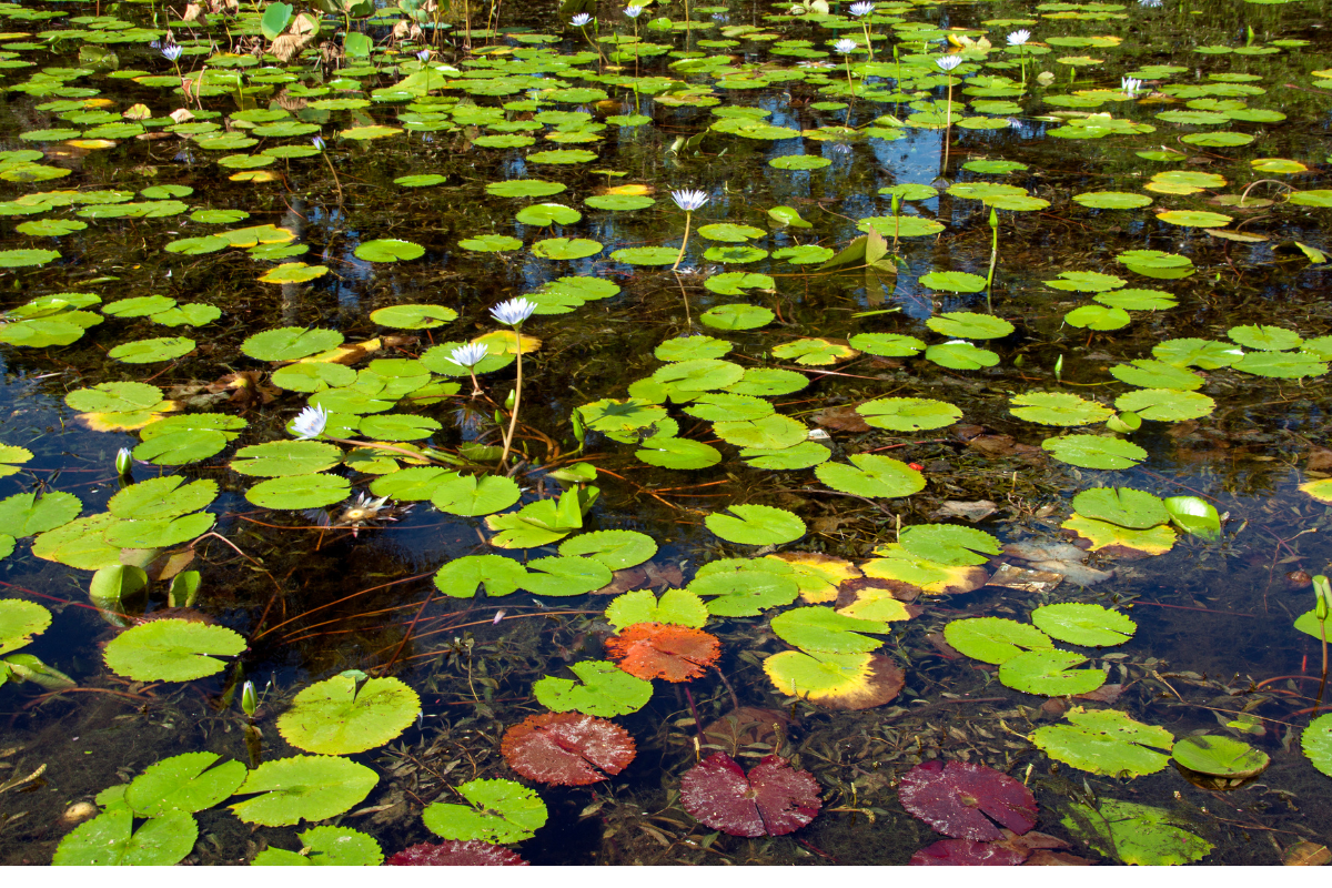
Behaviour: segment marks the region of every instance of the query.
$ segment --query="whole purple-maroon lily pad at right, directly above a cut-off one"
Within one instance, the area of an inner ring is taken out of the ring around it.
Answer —
[[[983,764],[924,762],[907,771],[898,795],[903,808],[954,839],[1002,839],[991,820],[1019,835],[1036,825],[1031,791]]]

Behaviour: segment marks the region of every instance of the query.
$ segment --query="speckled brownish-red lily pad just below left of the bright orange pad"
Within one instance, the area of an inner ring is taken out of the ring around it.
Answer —
[[[635,750],[625,728],[578,712],[529,715],[505,731],[500,744],[505,762],[522,776],[565,787],[619,774]]]

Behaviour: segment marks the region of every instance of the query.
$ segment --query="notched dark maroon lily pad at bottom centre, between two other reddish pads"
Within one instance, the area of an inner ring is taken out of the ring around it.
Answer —
[[[731,836],[785,836],[819,812],[819,783],[786,759],[765,756],[749,776],[725,752],[695,764],[679,783],[681,801],[695,820]]]

